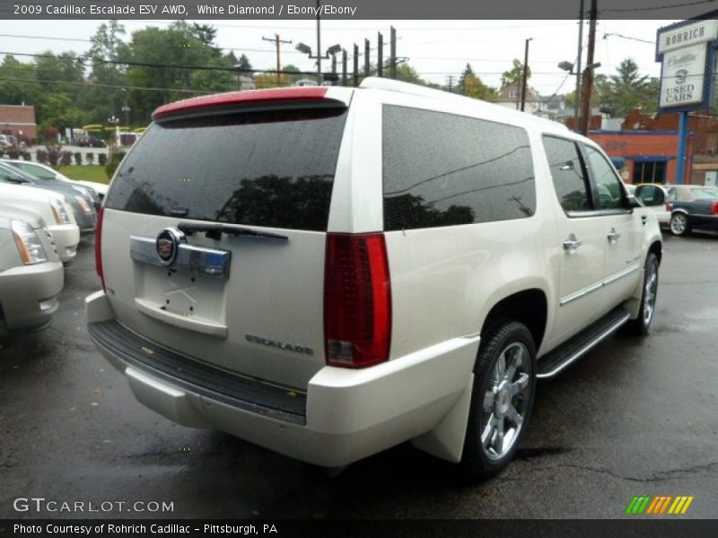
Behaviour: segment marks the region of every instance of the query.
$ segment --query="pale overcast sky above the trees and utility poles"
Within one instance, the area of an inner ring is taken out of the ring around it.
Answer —
[[[596,33],[595,60],[601,63],[597,73],[615,74],[617,65],[632,57],[642,74],[659,76],[660,64],[655,62],[656,30],[675,21],[600,21]],[[129,34],[146,26],[166,27],[168,21],[122,21]],[[294,46],[302,41],[316,48],[316,22],[307,21],[206,21],[217,28],[216,43],[221,48],[234,49],[250,58],[256,69],[274,69],[274,45],[262,37],[292,40],[293,45],[282,47],[282,64],[297,65],[312,71],[314,61],[298,53]],[[39,53],[89,48],[90,39],[101,21],[13,21],[0,30],[0,51]],[[566,77],[556,65],[562,60],[574,62],[578,50],[578,23],[575,21],[327,21],[321,25],[322,48],[334,44],[351,51],[354,43],[363,53],[363,39],[376,48],[377,32],[384,34],[384,55],[389,55],[389,30],[397,29],[397,56],[407,57],[422,78],[446,83],[450,74],[459,75],[470,63],[474,72],[489,85],[497,86],[503,71],[510,68],[512,59],[523,60],[525,39],[530,42],[529,65],[533,72],[530,85],[542,95],[565,93],[574,89],[575,77]],[[36,36],[43,39],[8,37]],[[607,35],[608,34],[608,35]],[[604,36],[606,37],[604,38]],[[588,25],[583,33],[588,42]],[[55,39],[50,39],[55,38]],[[78,39],[78,40],[58,40]],[[29,57],[18,56],[23,61]],[[372,60],[376,51],[372,51]],[[362,68],[360,61],[360,69]],[[328,67],[328,66],[327,66]],[[351,62],[349,70],[351,71]],[[327,69],[328,70],[328,69]],[[456,79],[455,79],[456,80]],[[562,86],[563,82],[563,86]]]

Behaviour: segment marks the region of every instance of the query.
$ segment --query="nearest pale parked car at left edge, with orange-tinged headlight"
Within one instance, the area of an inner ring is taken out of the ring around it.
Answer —
[[[0,208],[0,337],[50,323],[62,291],[62,263],[37,214]]]

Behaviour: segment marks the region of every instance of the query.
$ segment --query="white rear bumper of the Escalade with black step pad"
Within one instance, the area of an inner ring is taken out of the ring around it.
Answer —
[[[457,338],[369,369],[324,367],[304,392],[165,350],[114,320],[101,291],[86,306],[92,340],[142,404],[327,467],[433,430],[464,392],[478,347],[477,337]]]

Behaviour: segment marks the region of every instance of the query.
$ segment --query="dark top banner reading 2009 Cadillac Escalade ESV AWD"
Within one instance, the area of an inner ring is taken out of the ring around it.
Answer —
[[[600,19],[683,20],[715,0],[601,0]],[[576,0],[3,0],[0,19],[577,19]],[[318,12],[318,10],[320,10]]]

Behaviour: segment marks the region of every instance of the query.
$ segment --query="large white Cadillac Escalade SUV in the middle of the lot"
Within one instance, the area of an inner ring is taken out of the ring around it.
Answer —
[[[374,78],[153,119],[105,200],[87,320],[173,421],[325,466],[412,439],[483,478],[538,377],[651,325],[655,216],[565,126]]]

